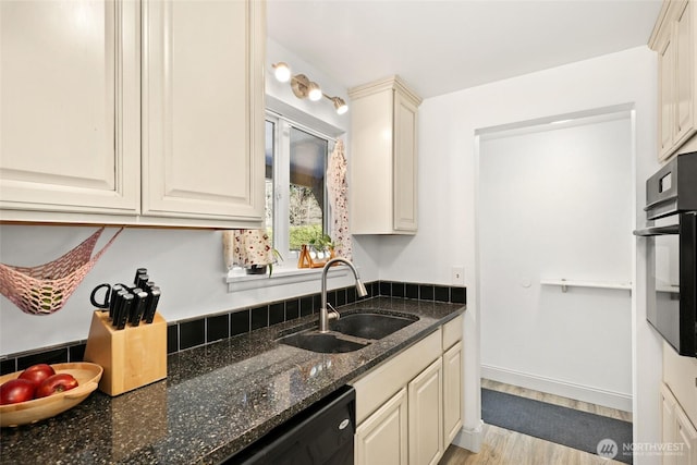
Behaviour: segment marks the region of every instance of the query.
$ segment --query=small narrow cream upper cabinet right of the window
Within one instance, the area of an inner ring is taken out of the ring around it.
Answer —
[[[352,88],[348,95],[351,232],[416,234],[421,99],[399,76]]]

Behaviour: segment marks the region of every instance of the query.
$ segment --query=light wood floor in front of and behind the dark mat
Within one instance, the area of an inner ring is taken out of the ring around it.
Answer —
[[[632,421],[632,414],[573,399],[560,397],[543,392],[490,380],[481,380],[481,387],[522,395],[550,404],[563,405],[584,412],[590,412],[625,421]],[[439,465],[607,465],[622,462],[609,461],[596,454],[578,451],[565,445],[543,441],[531,436],[510,431],[492,425],[484,426],[484,440],[478,454],[451,445],[443,454]]]

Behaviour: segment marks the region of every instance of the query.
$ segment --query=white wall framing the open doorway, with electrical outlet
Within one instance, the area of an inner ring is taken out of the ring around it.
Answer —
[[[466,59],[465,57],[461,59]],[[450,283],[465,266],[465,423],[461,443],[476,448],[480,425],[479,318],[475,269],[475,131],[550,115],[631,103],[636,110],[635,223],[643,224],[644,180],[656,161],[656,54],[647,47],[608,54],[425,100],[419,108],[419,233],[381,240],[380,279]],[[660,341],[646,323],[646,262],[637,243],[633,264],[634,440],[656,441]],[[425,265],[426,264],[426,265]],[[415,266],[416,265],[416,266]],[[636,463],[651,463],[637,457]]]

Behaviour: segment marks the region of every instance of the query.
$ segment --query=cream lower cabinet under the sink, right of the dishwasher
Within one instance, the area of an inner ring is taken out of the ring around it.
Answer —
[[[357,465],[442,457],[462,425],[462,325],[458,316],[351,383]]]

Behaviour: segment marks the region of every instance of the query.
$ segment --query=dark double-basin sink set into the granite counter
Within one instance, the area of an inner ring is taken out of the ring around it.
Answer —
[[[331,320],[329,332],[321,333],[316,329],[308,329],[280,338],[278,342],[322,354],[353,352],[417,320],[418,317],[412,315],[386,315],[376,310],[363,310]]]

